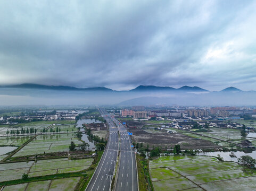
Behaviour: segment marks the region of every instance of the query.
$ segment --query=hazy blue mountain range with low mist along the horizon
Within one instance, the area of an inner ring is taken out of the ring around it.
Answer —
[[[228,87],[209,91],[197,86],[139,85],[131,90],[104,87],[76,88],[40,84],[0,86],[0,106],[10,105],[180,105],[245,106],[256,105],[256,91]]]

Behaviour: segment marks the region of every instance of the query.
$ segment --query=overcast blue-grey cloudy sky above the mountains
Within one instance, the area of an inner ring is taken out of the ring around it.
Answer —
[[[0,1],[0,84],[256,90],[256,1]]]

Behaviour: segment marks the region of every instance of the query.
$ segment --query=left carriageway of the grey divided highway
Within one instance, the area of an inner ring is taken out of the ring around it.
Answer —
[[[108,115],[102,109],[101,114]],[[110,183],[113,178],[115,161],[117,161],[118,152],[118,128],[115,126],[110,116],[104,116],[109,124],[109,141],[102,155],[101,161],[90,180],[86,191],[92,190],[110,190]]]

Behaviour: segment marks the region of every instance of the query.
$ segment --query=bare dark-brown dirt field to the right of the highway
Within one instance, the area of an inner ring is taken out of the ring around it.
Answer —
[[[210,141],[200,140],[181,133],[169,134],[161,131],[150,133],[139,128],[128,128],[128,130],[133,133],[131,136],[133,142],[149,144],[151,148],[154,145],[154,147],[162,146],[163,149],[167,146],[167,149],[170,149],[176,144],[180,144],[181,149],[214,149],[219,147]]]

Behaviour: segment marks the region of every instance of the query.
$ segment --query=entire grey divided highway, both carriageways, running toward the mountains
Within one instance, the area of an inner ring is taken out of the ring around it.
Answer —
[[[120,150],[120,165],[115,190],[138,191],[137,165],[131,139],[126,128],[104,109],[99,109],[109,125],[109,141],[102,155],[86,191],[110,190],[110,183],[114,174],[114,165],[117,161],[117,152]],[[120,134],[120,146],[119,136]]]

